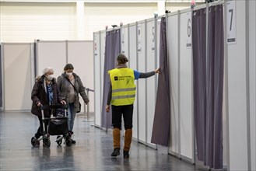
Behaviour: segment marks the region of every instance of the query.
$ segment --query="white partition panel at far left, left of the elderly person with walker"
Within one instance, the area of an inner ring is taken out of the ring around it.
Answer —
[[[4,110],[31,110],[32,44],[2,44]]]

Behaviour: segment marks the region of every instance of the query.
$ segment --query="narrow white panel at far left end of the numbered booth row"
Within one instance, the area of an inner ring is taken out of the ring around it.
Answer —
[[[100,73],[100,33],[94,33],[93,35],[94,46],[94,124],[96,127],[100,127],[101,123],[101,73]]]

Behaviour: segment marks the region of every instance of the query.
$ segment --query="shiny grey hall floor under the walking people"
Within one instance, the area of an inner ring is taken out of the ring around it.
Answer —
[[[0,170],[204,170],[159,150],[132,141],[130,159],[122,153],[111,158],[112,138],[79,115],[75,118],[75,145],[57,145],[51,136],[51,147],[37,148],[30,139],[38,127],[31,113],[0,113]]]

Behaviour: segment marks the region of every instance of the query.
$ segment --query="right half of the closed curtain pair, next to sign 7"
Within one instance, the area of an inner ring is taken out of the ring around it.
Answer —
[[[205,165],[223,168],[223,5],[209,8]]]

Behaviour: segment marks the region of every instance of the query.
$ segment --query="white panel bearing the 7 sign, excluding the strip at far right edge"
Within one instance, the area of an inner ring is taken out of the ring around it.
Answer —
[[[245,2],[236,1],[237,43],[228,51],[230,170],[247,170]]]

